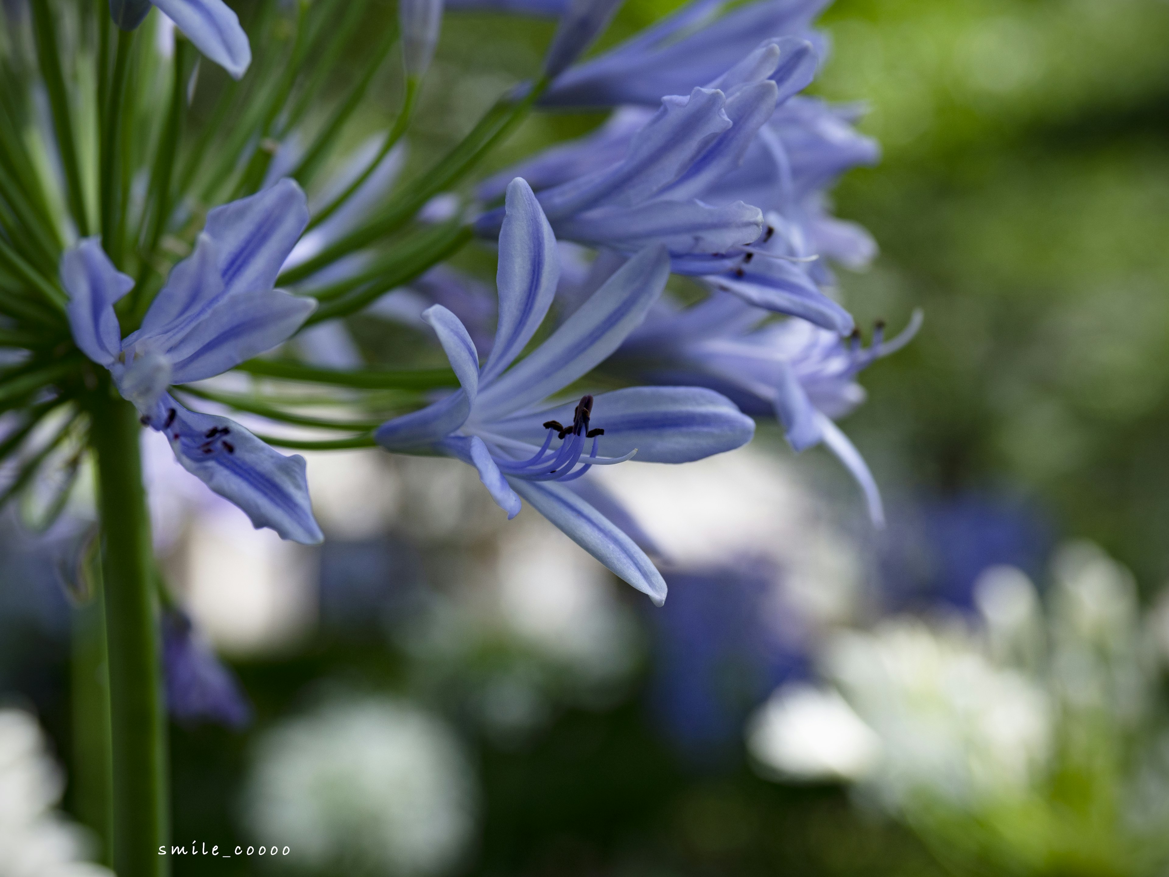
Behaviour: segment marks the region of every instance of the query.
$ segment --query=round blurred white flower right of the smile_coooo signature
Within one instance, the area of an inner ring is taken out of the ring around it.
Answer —
[[[371,875],[455,868],[477,824],[477,783],[455,733],[397,699],[327,702],[257,743],[245,817],[290,865]]]

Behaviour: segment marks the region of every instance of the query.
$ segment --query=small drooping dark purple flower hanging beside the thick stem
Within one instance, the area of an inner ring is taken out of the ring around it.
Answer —
[[[213,721],[241,728],[251,721],[251,705],[231,671],[198,637],[179,609],[162,613],[162,668],[167,709],[186,724]]]

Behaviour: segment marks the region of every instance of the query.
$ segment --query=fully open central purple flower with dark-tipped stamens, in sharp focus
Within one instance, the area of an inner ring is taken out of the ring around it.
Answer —
[[[507,187],[499,234],[499,319],[480,367],[466,329],[442,305],[423,315],[462,388],[382,424],[375,437],[399,453],[441,454],[478,469],[514,517],[520,497],[620,578],[660,603],[665,582],[645,553],[566,482],[593,465],[639,460],[684,463],[738,448],[754,423],[727,399],[697,387],[631,387],[566,403],[548,396],[604,361],[642,322],[669,275],[665,249],[634,256],[575,313],[516,365],[555,296],[560,263],[552,228],[524,180]]]

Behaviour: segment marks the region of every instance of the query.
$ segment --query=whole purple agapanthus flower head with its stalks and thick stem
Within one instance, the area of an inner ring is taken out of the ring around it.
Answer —
[[[697,461],[774,414],[797,450],[823,442],[844,460],[879,520],[833,420],[860,400],[857,373],[904,337],[878,330],[863,346],[826,265],[874,251],[825,192],[877,150],[853,109],[801,95],[824,60],[821,0],[725,14],[696,0],[577,63],[618,5],[458,4],[559,23],[531,81],[410,179],[442,0],[400,0],[396,22],[378,2],[339,0],[261,0],[242,18],[223,0],[111,0],[109,15],[5,5],[0,503],[51,484],[51,519],[96,476],[99,550],[87,557],[105,587],[116,783],[133,789],[118,807],[165,797],[152,704],[157,607],[173,602],[148,557],[141,428],[256,527],[306,544],[324,538],[306,464],[282,449],[452,457],[509,517],[526,503],[658,603],[665,582],[593,483],[597,467]],[[346,57],[357,44],[366,54]],[[396,115],[340,160],[399,55]],[[326,99],[343,57],[359,74]],[[614,113],[476,180],[527,113],[574,106]],[[494,290],[443,264],[476,237],[497,248]],[[676,301],[671,274],[701,301]],[[410,313],[449,368],[368,365],[344,329],[367,310]],[[172,706],[242,719],[230,678],[200,669],[210,656],[168,612]],[[174,690],[182,678],[209,699]],[[123,819],[116,865],[137,873],[164,822]]]

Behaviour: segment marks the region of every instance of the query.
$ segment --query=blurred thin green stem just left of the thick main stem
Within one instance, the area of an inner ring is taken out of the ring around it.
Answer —
[[[101,567],[87,571],[94,592],[74,609],[70,688],[72,700],[72,803],[97,835],[99,863],[113,864],[113,773],[110,762],[110,671]]]

